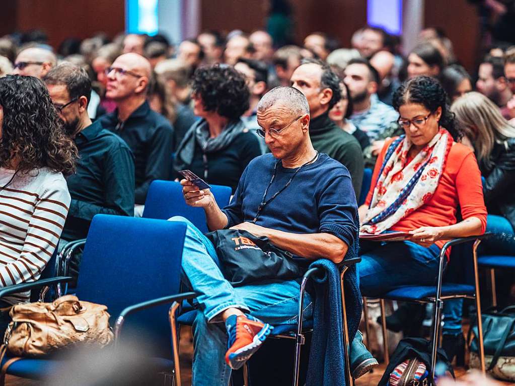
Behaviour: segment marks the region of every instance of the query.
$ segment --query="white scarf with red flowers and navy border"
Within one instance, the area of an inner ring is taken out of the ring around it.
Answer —
[[[377,235],[387,231],[430,201],[452,144],[452,135],[440,128],[407,164],[411,142],[404,135],[394,141],[385,154],[360,233]]]

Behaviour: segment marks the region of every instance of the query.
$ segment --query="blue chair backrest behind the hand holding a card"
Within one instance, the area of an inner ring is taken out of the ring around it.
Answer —
[[[211,193],[221,208],[229,204],[230,187],[211,185]],[[186,204],[180,183],[175,181],[152,181],[145,200],[143,217],[167,220],[172,216],[183,216],[190,220],[201,232],[208,232],[204,210]]]

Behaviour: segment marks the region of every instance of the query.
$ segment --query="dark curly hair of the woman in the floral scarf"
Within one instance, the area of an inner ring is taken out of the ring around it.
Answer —
[[[459,141],[463,136],[463,131],[456,124],[454,113],[449,108],[447,93],[437,79],[418,76],[402,83],[393,94],[393,108],[399,111],[399,108],[407,103],[422,104],[432,113],[441,107],[440,126],[451,133],[454,141]]]

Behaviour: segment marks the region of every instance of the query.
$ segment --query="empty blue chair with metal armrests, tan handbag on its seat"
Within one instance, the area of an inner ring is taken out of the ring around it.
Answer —
[[[177,221],[96,215],[85,241],[76,289],[79,300],[108,307],[111,325],[121,315],[115,328],[117,339],[131,340],[144,335],[156,363],[167,371],[175,365],[179,385],[177,344],[170,345],[177,338],[172,331],[176,330],[178,303],[170,310],[168,305],[195,296],[191,292],[179,294],[185,232],[186,224]],[[70,279],[46,280],[53,284]],[[38,285],[27,285],[31,284]],[[4,288],[0,298],[28,289],[27,285]],[[122,325],[128,327],[123,332]],[[2,366],[9,359],[4,358]],[[55,359],[23,358],[10,364],[7,374],[41,379],[58,370],[62,363]]]

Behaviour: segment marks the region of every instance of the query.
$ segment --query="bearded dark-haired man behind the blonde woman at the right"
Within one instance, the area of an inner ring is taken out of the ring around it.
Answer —
[[[500,109],[506,119],[511,119],[506,104],[513,94],[504,76],[504,60],[487,56],[479,64],[477,91],[491,99]]]

